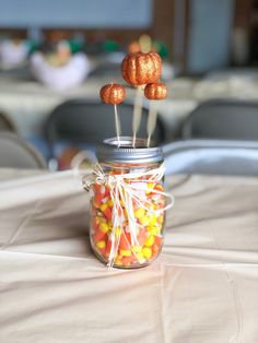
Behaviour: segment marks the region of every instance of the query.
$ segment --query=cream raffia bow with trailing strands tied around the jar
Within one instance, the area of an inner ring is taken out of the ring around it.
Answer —
[[[159,215],[164,211],[171,209],[174,204],[174,197],[162,190],[152,189],[152,194],[157,197],[164,197],[164,200],[167,199],[166,204],[162,209],[153,209],[153,202],[146,199],[148,184],[149,182],[159,182],[164,177],[165,167],[162,164],[160,167],[150,169],[148,172],[133,172],[126,174],[105,174],[103,168],[98,163],[96,163],[90,173],[82,177],[83,188],[86,191],[90,191],[93,185],[102,185],[108,188],[110,193],[110,199],[113,201],[112,210],[112,232],[109,234],[109,239],[112,240],[110,252],[107,258],[109,268],[113,267],[114,261],[117,256],[117,250],[121,234],[130,234],[131,241],[127,243],[130,246],[140,246],[138,239],[138,228],[142,225],[137,222],[134,216],[133,205],[144,209],[149,213]],[[122,203],[122,205],[121,205]],[[124,208],[122,208],[124,206]],[[125,222],[128,221],[126,228]],[[117,235],[117,228],[120,229],[120,234]],[[124,230],[124,233],[122,233]],[[136,253],[136,257],[139,260],[139,257]],[[139,261],[140,263],[144,261]]]

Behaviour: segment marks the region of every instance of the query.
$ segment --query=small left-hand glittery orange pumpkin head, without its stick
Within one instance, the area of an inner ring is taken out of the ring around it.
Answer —
[[[104,103],[117,105],[125,100],[126,88],[118,83],[106,84],[101,88],[99,96]]]

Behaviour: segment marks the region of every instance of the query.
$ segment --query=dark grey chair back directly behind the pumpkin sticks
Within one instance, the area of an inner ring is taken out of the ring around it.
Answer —
[[[121,135],[131,135],[133,106],[119,104],[118,113],[121,123]],[[138,137],[146,138],[148,110],[142,109],[142,120]],[[70,143],[94,151],[96,144],[104,139],[116,135],[114,107],[99,102],[85,99],[68,100],[58,106],[50,114],[46,123],[46,140],[49,144],[50,156],[56,157],[55,145],[60,142]],[[163,122],[157,118],[153,140],[164,142],[165,131]]]

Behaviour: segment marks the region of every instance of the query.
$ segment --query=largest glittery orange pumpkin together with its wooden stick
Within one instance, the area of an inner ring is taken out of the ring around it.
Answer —
[[[128,55],[122,60],[121,73],[127,83],[138,87],[132,117],[132,145],[134,146],[141,123],[142,86],[159,81],[162,73],[162,59],[159,54],[153,51]]]

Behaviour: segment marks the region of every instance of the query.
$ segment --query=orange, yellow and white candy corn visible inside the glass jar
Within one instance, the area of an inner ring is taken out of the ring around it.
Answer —
[[[162,194],[163,185],[153,181],[139,180],[137,186],[145,196],[144,206],[133,203],[133,215],[137,226],[137,243],[132,243],[128,227],[128,212],[124,200],[120,202],[120,215],[124,216],[124,226],[115,227],[114,249],[116,258],[114,265],[137,267],[149,264],[161,251],[163,244],[163,224],[165,199]],[[92,217],[92,245],[98,257],[108,261],[113,245],[113,208],[114,201],[107,186],[95,184],[93,187],[93,217]],[[119,211],[118,211],[119,212]]]

